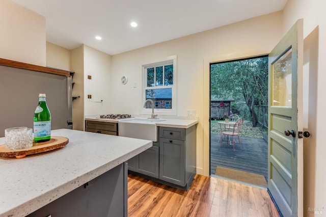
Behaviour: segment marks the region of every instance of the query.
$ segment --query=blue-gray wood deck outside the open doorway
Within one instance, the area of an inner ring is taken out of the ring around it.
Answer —
[[[264,139],[240,137],[241,149],[236,143],[235,151],[226,143],[220,147],[220,134],[211,133],[210,173],[216,166],[242,170],[263,175],[267,180],[267,142]]]

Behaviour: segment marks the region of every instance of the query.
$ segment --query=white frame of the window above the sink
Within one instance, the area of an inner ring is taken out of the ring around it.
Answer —
[[[147,87],[147,68],[149,67],[158,67],[162,65],[166,65],[167,63],[173,64],[173,85],[171,86],[156,86],[156,87]],[[172,108],[155,108],[154,104],[154,113],[157,115],[177,115],[177,56],[168,57],[165,61],[145,64],[142,66],[143,70],[143,91],[142,91],[142,106],[146,100],[146,90],[149,89],[164,89],[164,88],[172,88]],[[170,104],[171,106],[171,104]],[[141,114],[143,115],[151,115],[152,108],[142,107]]]

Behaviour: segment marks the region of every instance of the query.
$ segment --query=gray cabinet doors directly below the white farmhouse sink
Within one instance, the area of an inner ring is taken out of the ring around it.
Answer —
[[[128,170],[158,178],[159,167],[158,143],[128,160]]]

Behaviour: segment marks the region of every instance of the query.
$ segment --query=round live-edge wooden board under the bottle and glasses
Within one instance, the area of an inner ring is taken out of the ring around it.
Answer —
[[[0,157],[16,157],[22,158],[30,154],[38,154],[46,151],[51,151],[57,148],[63,148],[69,143],[66,137],[51,137],[47,142],[36,143],[33,141],[33,146],[18,150],[11,150],[6,147],[6,144],[0,146]]]

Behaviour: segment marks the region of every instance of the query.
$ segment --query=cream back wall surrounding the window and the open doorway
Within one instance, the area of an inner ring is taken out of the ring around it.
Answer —
[[[177,56],[177,115],[195,109],[197,173],[209,175],[209,63],[269,53],[282,36],[277,12],[222,28],[121,53],[112,57],[112,113],[139,114],[142,109],[142,65]],[[120,83],[121,76],[129,77]],[[133,88],[137,83],[137,88]]]

